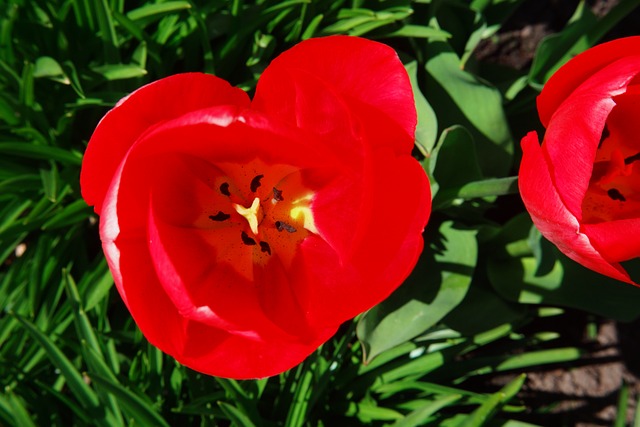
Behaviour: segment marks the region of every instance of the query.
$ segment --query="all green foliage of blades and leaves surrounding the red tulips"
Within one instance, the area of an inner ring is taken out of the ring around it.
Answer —
[[[522,3],[0,2],[0,424],[529,425],[519,416],[535,408],[519,402],[526,378],[515,373],[581,350],[521,328],[545,306],[631,320],[640,291],[532,228],[513,195],[513,123],[526,115],[536,127],[544,82],[638,2],[602,19],[581,3],[530,69],[492,72],[472,53]],[[242,382],[190,371],[143,339],[113,289],[80,194],[86,142],[142,84],[204,71],[251,91],[279,52],[330,34],[379,39],[405,59],[434,195],[426,250],[398,292],[291,371]],[[495,372],[514,375],[500,390],[469,389]]]

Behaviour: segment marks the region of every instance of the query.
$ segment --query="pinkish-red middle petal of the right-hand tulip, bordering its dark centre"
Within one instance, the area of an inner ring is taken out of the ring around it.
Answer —
[[[579,221],[602,130],[615,106],[613,97],[624,93],[639,71],[640,56],[607,65],[574,90],[549,122],[542,149],[560,198]]]

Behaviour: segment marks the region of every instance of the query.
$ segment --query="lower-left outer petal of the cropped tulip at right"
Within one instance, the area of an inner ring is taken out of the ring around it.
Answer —
[[[633,283],[619,264],[610,263],[593,247],[578,219],[564,204],[553,183],[548,160],[535,132],[530,132],[522,139],[522,151],[518,180],[520,195],[542,235],[583,266]]]

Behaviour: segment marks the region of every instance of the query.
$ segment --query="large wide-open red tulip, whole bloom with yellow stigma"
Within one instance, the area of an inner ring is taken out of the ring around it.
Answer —
[[[81,186],[146,338],[203,373],[265,377],[386,298],[431,209],[415,126],[395,51],[346,36],[280,55],[253,101],[199,73],[120,101]]]

